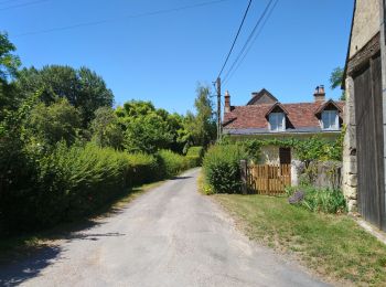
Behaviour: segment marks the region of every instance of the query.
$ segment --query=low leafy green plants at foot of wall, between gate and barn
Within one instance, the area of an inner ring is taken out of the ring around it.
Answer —
[[[297,188],[287,188],[287,194],[292,195]],[[341,190],[317,189],[301,187],[304,200],[299,205],[311,212],[343,213],[346,212],[346,201]]]

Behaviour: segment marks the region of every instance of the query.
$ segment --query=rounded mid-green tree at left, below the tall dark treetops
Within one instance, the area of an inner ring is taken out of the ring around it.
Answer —
[[[62,98],[50,106],[37,104],[31,110],[25,126],[37,146],[52,147],[61,140],[67,145],[74,144],[82,124],[79,111]]]

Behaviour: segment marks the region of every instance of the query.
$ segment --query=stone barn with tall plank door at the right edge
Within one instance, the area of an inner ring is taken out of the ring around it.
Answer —
[[[356,0],[343,88],[343,192],[351,211],[386,231],[385,1]]]

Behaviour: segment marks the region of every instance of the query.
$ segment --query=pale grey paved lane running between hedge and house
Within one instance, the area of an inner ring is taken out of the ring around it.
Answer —
[[[250,243],[211,199],[199,170],[168,181],[57,247],[0,267],[0,285],[323,286]]]

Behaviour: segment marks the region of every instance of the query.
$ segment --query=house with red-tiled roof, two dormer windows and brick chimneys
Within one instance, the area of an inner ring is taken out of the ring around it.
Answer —
[[[311,103],[282,104],[267,89],[253,93],[245,106],[232,106],[225,95],[223,134],[235,139],[304,139],[321,136],[335,140],[343,124],[344,102],[325,99],[318,86]],[[286,147],[265,147],[259,163],[289,164],[293,152]]]

